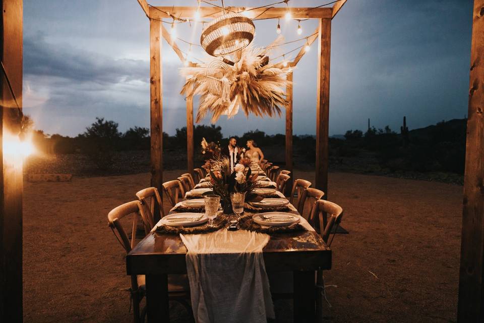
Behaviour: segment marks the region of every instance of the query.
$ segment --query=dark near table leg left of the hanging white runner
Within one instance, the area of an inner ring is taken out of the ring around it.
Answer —
[[[148,323],[169,323],[168,275],[146,275]]]

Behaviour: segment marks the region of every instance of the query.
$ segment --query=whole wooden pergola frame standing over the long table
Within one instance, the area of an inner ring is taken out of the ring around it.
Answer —
[[[177,17],[178,19],[191,19],[199,10],[204,18],[216,18],[223,15],[223,10],[216,7],[153,7],[146,0],[138,0],[144,13],[150,20],[150,96],[151,96],[151,185],[161,189],[163,183],[163,72],[161,48],[164,38],[173,48],[181,60],[187,59],[184,53],[170,36],[161,22],[162,19]],[[244,12],[249,18],[277,19],[283,17],[287,10],[292,19],[317,19],[319,26],[308,37],[311,45],[318,40],[318,78],[317,78],[317,106],[316,106],[316,184],[315,187],[323,190],[328,196],[328,123],[329,123],[329,71],[331,56],[331,20],[336,16],[346,0],[340,0],[331,7],[321,8],[248,8],[226,7],[226,11]],[[301,48],[295,59],[288,62],[288,66],[295,67],[305,54]],[[194,63],[190,63],[196,65]],[[287,76],[292,81],[292,72]],[[286,88],[288,104],[285,107],[285,168],[292,169],[292,85]],[[194,137],[193,137],[193,99],[187,99],[187,165],[188,172],[193,175],[194,169]],[[290,187],[291,185],[288,185]]]

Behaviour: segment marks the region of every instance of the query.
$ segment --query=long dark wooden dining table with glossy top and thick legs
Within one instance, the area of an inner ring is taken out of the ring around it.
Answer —
[[[168,274],[186,274],[179,235],[151,232],[128,254],[128,275],[146,275],[148,322],[169,322]],[[331,250],[314,231],[273,234],[263,250],[267,272],[292,271],[294,322],[315,319],[316,270],[331,268]]]

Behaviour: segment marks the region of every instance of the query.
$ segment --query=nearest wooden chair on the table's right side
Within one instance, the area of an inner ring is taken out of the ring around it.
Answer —
[[[331,246],[336,230],[338,229],[341,220],[343,219],[343,209],[336,203],[316,200],[314,201],[313,210],[311,212],[310,224],[319,231],[324,242]],[[329,236],[333,232],[333,227],[336,226],[331,240],[328,243]],[[323,271],[316,272],[316,313],[317,318],[322,320],[323,318],[323,298],[326,299],[326,289],[324,284]]]

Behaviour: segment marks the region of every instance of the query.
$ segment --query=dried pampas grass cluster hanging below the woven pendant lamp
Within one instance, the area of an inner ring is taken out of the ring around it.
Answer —
[[[188,78],[181,94],[187,97],[200,95],[196,122],[200,122],[208,113],[212,114],[212,123],[217,122],[223,114],[231,118],[237,113],[238,107],[247,117],[249,114],[280,116],[281,109],[287,104],[286,75],[292,71],[292,67],[280,68],[280,64],[270,64],[268,56],[281,41],[282,37],[266,48],[249,45],[242,50],[240,61],[234,66],[211,68],[210,63],[206,63],[200,67],[181,68],[181,75]],[[213,86],[213,82],[220,82],[221,86]]]

